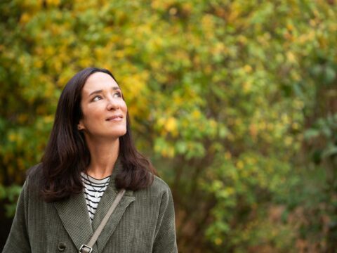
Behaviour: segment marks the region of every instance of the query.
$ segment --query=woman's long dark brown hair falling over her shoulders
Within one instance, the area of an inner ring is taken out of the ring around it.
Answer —
[[[40,187],[46,202],[63,200],[81,193],[84,188],[81,171],[86,171],[91,157],[77,124],[83,117],[81,91],[88,77],[95,72],[109,74],[116,81],[109,70],[88,67],[67,82],[58,100],[51,136],[41,159]],[[138,153],[133,143],[128,112],[126,134],[119,137],[119,157],[123,170],[116,177],[117,188],[138,190],[152,184],[157,171],[146,157]]]

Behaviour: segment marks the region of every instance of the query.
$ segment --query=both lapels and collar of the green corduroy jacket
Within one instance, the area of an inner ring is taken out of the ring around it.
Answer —
[[[98,228],[100,221],[102,221],[103,217],[112,205],[112,202],[118,193],[115,183],[116,176],[122,169],[121,159],[118,157],[116,164],[114,165],[114,170],[112,171],[109,186],[107,186],[107,189],[98,204],[92,223],[88,216],[88,208],[86,207],[84,193],[73,195],[68,200],[54,203],[55,208],[58,211],[58,215],[62,220],[63,226],[70,235],[70,238],[72,238],[72,241],[74,242],[74,245],[76,245],[77,249],[79,249],[81,245],[88,243],[93,235],[93,231]],[[98,240],[93,247],[93,252],[101,252],[103,250],[107,240],[109,240],[112,233],[114,233],[114,230],[126,211],[126,208],[135,200],[136,197],[133,196],[133,191],[126,190],[124,197],[121,199],[121,202],[119,202],[119,205],[110,216],[105,228],[98,237]]]

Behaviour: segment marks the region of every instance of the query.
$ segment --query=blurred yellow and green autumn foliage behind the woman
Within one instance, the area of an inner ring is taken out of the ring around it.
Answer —
[[[0,221],[62,88],[105,67],[180,252],[336,252],[337,2],[1,0]]]

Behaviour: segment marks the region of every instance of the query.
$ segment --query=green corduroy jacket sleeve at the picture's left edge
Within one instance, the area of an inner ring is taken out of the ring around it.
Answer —
[[[24,183],[3,253],[31,252],[27,233],[28,183]]]

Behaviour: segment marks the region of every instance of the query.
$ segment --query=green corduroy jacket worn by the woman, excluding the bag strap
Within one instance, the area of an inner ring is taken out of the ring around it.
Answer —
[[[40,171],[35,166],[20,193],[3,252],[79,252],[117,196],[114,179],[121,169],[117,161],[91,223],[83,193],[54,203],[41,200],[37,187]],[[169,186],[156,176],[148,188],[126,190],[93,252],[178,252]]]

